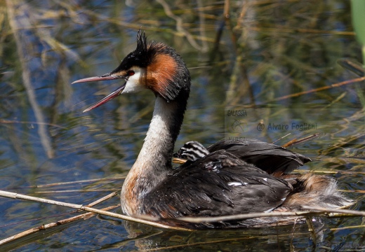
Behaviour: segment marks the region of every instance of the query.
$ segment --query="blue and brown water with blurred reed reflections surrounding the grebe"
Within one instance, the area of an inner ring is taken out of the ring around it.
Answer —
[[[75,204],[120,190],[122,176],[142,146],[154,96],[124,95],[81,113],[119,83],[69,83],[114,69],[135,48],[135,34],[142,27],[150,39],[177,48],[192,73],[192,93],[176,149],[192,139],[208,146],[223,137],[273,142],[291,133],[277,143],[285,144],[320,133],[291,148],[314,160],[303,169],[335,177],[348,197],[359,200],[353,208],[364,211],[362,83],[284,97],[357,78],[336,64],[343,57],[360,60],[350,1],[230,1],[229,19],[223,18],[224,4],[2,3],[1,190]],[[234,110],[245,112],[228,116],[227,111]],[[73,181],[77,182],[65,183]],[[98,207],[118,203],[114,197]],[[69,217],[62,215],[69,211],[64,207],[6,198],[0,200],[0,211],[1,239]],[[359,218],[324,220],[319,246],[364,248],[361,230],[330,229],[360,224]],[[310,237],[306,225],[177,232],[99,216],[5,248],[307,251]]]

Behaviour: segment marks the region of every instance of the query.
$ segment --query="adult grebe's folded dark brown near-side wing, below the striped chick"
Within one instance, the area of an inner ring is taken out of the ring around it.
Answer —
[[[163,218],[224,216],[269,211],[292,190],[287,181],[220,150],[174,170],[142,205],[145,214]]]

